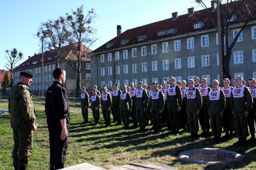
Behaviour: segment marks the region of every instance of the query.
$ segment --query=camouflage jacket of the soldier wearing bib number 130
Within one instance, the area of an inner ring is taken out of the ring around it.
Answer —
[[[230,108],[234,112],[236,113],[245,112],[245,111],[249,112],[252,108],[252,104],[253,104],[253,100],[251,97],[251,92],[247,87],[245,87],[244,89],[244,97],[242,98],[233,98],[233,94],[231,93]]]

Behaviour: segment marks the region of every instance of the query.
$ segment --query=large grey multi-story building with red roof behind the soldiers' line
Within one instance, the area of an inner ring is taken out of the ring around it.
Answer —
[[[216,4],[208,9],[217,23]],[[230,19],[229,44],[242,24],[239,17]],[[201,22],[200,22],[201,21]],[[241,75],[245,80],[256,78],[256,22],[249,22],[240,34],[230,60],[230,75]],[[225,42],[224,42],[225,43]],[[188,13],[150,23],[121,33],[91,53],[91,82],[102,87],[114,82],[128,85],[137,81],[188,80],[198,76],[207,78],[208,84],[219,79],[218,33],[207,11]]]

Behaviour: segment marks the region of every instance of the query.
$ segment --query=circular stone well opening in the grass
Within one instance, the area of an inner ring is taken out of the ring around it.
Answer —
[[[227,164],[233,161],[242,161],[244,157],[226,149],[198,148],[179,153],[178,159],[190,163]]]

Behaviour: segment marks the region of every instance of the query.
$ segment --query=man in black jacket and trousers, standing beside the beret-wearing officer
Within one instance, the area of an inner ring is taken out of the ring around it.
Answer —
[[[54,69],[53,78],[54,82],[47,89],[45,95],[45,113],[50,143],[50,170],[64,168],[70,125],[68,94],[63,87],[66,80],[65,70]]]

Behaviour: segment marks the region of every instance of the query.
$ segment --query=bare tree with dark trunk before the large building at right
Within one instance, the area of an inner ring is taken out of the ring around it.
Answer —
[[[218,23],[213,19],[211,14],[211,8],[207,8],[204,3],[206,0],[195,0],[198,4],[205,8],[208,17],[210,17],[211,23],[215,26],[218,31]],[[232,49],[236,44],[239,35],[244,30],[245,26],[256,19],[256,1],[255,0],[214,0],[219,5],[219,16],[220,16],[220,32],[221,32],[221,57],[223,66],[223,79],[229,78],[230,76],[230,56]],[[199,13],[200,14],[200,13]],[[195,18],[196,19],[196,18]],[[236,34],[235,38],[232,38],[231,44],[229,44],[229,27],[233,23],[240,23],[241,28]],[[225,44],[224,44],[225,40]],[[224,53],[226,52],[226,55]]]

